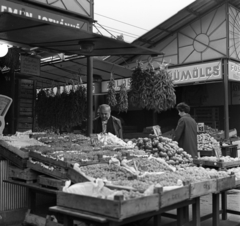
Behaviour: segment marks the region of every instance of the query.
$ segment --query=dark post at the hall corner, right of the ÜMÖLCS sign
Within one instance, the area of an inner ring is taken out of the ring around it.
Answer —
[[[229,138],[229,107],[228,107],[228,62],[227,59],[223,60],[223,86],[224,86],[224,131],[225,131],[225,138]]]

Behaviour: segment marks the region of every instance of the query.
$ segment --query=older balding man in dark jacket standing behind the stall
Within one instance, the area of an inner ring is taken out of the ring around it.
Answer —
[[[93,120],[94,133],[112,133],[123,138],[121,121],[111,116],[111,107],[107,104],[99,106],[99,117]]]

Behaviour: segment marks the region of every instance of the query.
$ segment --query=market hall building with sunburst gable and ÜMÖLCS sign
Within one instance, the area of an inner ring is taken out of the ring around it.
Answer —
[[[232,4],[231,4],[232,3]],[[177,102],[186,101],[197,122],[220,130],[240,131],[240,5],[236,1],[196,1],[136,39],[164,57],[110,57],[112,63],[134,69],[136,61],[155,68],[168,64]],[[129,109],[131,111],[131,108]],[[167,131],[176,126],[176,110],[153,121]],[[148,122],[154,123],[154,122]]]

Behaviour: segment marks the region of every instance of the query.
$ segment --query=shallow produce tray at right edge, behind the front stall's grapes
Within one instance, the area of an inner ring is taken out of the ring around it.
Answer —
[[[232,168],[236,166],[240,166],[240,160],[238,161],[231,161],[231,162],[214,162],[214,161],[207,161],[201,159],[193,159],[193,163],[195,165],[201,166],[208,166],[208,167],[215,167],[215,168]]]

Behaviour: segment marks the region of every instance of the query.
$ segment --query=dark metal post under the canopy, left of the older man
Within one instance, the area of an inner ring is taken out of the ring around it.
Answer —
[[[87,136],[90,136],[93,130],[93,59],[92,57],[87,57]]]

